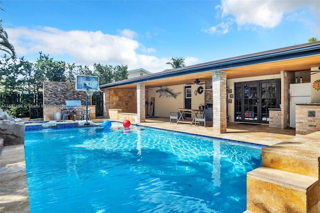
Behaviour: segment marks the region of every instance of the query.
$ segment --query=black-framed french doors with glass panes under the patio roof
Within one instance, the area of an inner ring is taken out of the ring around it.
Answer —
[[[281,103],[280,79],[234,83],[234,120],[269,122],[269,109]]]

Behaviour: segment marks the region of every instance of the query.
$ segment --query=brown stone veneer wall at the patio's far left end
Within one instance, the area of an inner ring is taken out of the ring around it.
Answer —
[[[137,113],[136,88],[134,89],[105,89],[105,109],[122,109],[122,112]]]

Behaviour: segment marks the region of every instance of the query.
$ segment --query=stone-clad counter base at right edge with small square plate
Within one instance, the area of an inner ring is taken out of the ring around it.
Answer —
[[[314,111],[315,117],[308,116]],[[320,131],[320,103],[295,105],[295,134],[309,134]]]

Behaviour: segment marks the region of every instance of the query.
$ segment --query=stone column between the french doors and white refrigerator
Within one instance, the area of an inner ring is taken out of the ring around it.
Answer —
[[[289,127],[290,83],[294,83],[294,72],[281,71],[281,129]]]

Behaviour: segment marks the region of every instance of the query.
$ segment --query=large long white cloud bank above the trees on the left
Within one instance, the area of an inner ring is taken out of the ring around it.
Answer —
[[[169,58],[157,58],[153,55],[137,54],[136,50],[152,53],[152,47],[144,47],[137,40],[132,30],[122,30],[119,35],[104,34],[101,31],[63,31],[53,27],[5,28],[11,44],[18,56],[34,55],[39,51],[55,56],[71,58],[76,64],[91,66],[93,63],[128,65],[128,69],[145,68],[151,72],[163,71]],[[31,59],[29,59],[31,60]],[[33,58],[35,61],[36,58]],[[63,60],[63,59],[62,59]]]

